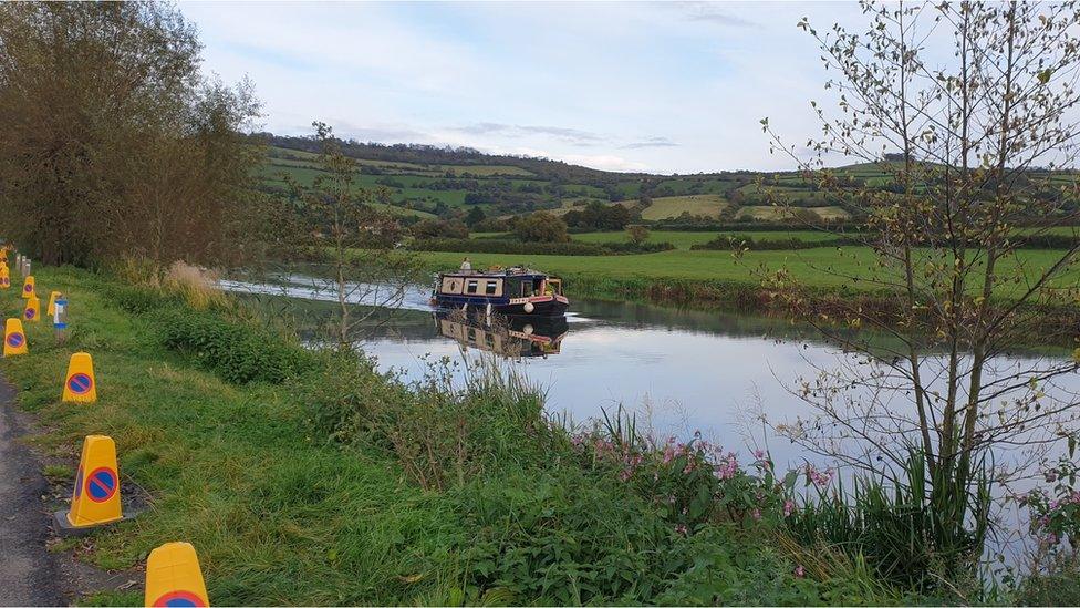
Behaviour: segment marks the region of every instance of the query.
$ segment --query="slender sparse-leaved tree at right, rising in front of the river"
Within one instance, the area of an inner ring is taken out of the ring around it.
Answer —
[[[1073,306],[1063,288],[1074,285],[1065,275],[1078,247],[1038,262],[1021,247],[1080,219],[1069,203],[1076,185],[1035,171],[1076,161],[1080,16],[1072,3],[863,10],[870,20],[863,35],[799,23],[839,74],[825,85],[837,112],[812,104],[823,133],[812,143],[814,157],[799,157],[762,120],[773,150],[868,218],[868,233],[844,236],[862,239],[872,264],[811,265],[879,293],[873,302],[845,296],[828,311],[807,310],[824,336],[861,357],[841,357],[806,380],[796,394],[814,416],[781,431],[894,481],[912,453],[925,457],[922,507],[935,515],[927,534],[964,567],[982,550],[989,463],[994,478],[1007,483],[1076,437],[1080,401],[1053,384],[1076,362],[1048,359],[1021,369],[1004,354],[1031,336],[1073,331],[1050,326],[1040,309]],[[947,59],[927,60],[931,32],[952,40]],[[901,156],[881,162],[885,151]],[[875,163],[900,188],[852,186],[823,169],[828,155]],[[1021,225],[1030,228],[1021,233]],[[781,270],[770,285],[798,309],[791,280]],[[872,328],[889,341],[827,320]]]

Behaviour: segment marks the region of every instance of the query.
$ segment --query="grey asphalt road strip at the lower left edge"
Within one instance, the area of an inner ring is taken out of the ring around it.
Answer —
[[[42,496],[49,483],[41,462],[19,441],[28,416],[0,379],[0,606],[64,606],[61,568],[45,549],[50,517]]]

